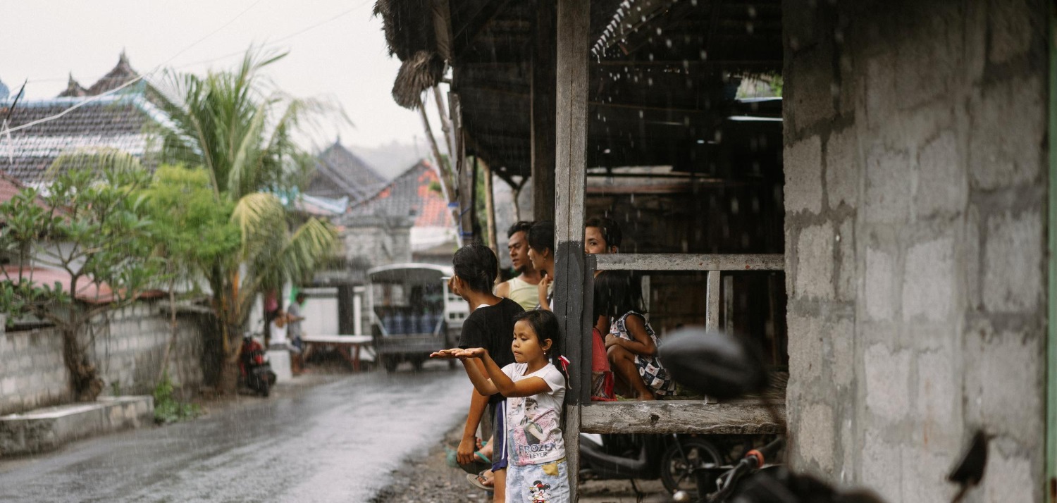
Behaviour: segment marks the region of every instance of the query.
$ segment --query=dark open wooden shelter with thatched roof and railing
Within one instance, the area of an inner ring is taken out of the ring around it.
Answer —
[[[742,78],[781,74],[781,3],[379,0],[375,13],[404,61],[396,101],[421,104],[421,93],[449,79],[457,170],[475,155],[512,185],[531,178],[535,220],[555,221],[555,312],[578,369],[570,462],[578,461],[579,431],[783,430],[781,414],[776,421],[754,403],[591,404],[582,386],[595,269],[700,286],[697,310],[709,328],[736,327],[734,291],[756,284],[748,303],[769,299],[765,324],[782,364],[782,101],[737,96]],[[649,216],[661,231],[639,239],[634,254],[586,256],[589,209],[631,224]],[[762,287],[760,275],[769,278]]]

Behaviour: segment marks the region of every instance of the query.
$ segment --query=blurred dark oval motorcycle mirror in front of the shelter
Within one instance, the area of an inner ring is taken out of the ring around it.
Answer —
[[[666,337],[659,351],[675,381],[698,393],[728,399],[767,387],[763,358],[745,339],[686,328]]]

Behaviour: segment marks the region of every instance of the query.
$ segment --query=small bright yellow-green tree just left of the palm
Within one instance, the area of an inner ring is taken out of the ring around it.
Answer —
[[[204,168],[163,165],[142,197],[150,216],[154,253],[165,263],[169,294],[171,333],[157,371],[161,383],[178,333],[177,282],[183,279],[184,286],[197,286],[215,263],[234,266],[241,236],[231,222],[235,204],[215,197]]]

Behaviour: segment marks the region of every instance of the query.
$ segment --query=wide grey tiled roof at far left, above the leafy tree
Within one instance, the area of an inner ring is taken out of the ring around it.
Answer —
[[[61,117],[7,134],[0,134],[0,169],[22,183],[40,182],[48,167],[62,152],[79,148],[109,147],[142,156],[149,148],[145,126],[167,117],[137,94],[66,97],[19,101],[11,112],[15,128],[61,113],[85,101]],[[12,100],[0,100],[0,118],[7,116]]]

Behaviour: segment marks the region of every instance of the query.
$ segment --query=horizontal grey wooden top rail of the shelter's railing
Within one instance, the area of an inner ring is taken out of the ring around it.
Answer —
[[[784,271],[781,254],[607,254],[596,255],[599,271]]]

